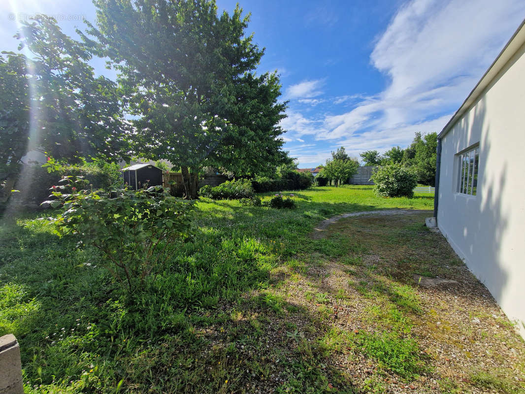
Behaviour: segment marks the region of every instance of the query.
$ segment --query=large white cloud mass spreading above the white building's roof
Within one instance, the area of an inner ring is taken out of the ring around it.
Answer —
[[[334,105],[358,102],[348,112],[325,115],[315,138],[338,141],[355,155],[405,147],[415,131],[439,132],[523,16],[522,0],[408,1],[370,57],[390,79],[387,87],[374,97],[336,97]]]

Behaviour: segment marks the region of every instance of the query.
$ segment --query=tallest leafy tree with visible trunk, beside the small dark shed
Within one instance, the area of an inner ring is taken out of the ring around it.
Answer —
[[[95,0],[101,53],[120,72],[143,155],[180,165],[195,198],[204,166],[270,172],[285,158],[276,74],[256,75],[264,50],[237,6],[207,0]]]

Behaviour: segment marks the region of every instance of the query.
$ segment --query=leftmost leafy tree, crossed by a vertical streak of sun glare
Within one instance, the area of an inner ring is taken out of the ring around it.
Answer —
[[[43,15],[15,37],[30,56],[0,56],[0,202],[31,150],[69,162],[117,160],[128,151],[116,85],[95,77],[92,51]]]

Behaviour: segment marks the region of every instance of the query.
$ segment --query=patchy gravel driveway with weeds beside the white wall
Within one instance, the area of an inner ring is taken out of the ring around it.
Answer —
[[[316,338],[306,334],[312,343],[342,344],[327,365],[359,392],[525,392],[523,340],[445,238],[425,229],[430,215],[364,211],[320,222],[311,237],[348,252],[319,247],[280,294],[308,310],[317,329]],[[309,324],[296,322],[300,332]],[[377,351],[369,341],[380,344]],[[411,350],[396,358],[402,349]]]

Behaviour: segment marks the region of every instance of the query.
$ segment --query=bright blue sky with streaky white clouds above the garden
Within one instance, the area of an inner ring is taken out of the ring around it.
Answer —
[[[525,18],[523,0],[239,0],[248,32],[266,47],[259,70],[277,69],[285,148],[299,167],[344,146],[358,157],[406,147],[416,131],[439,132]],[[236,1],[217,0],[232,11]],[[74,35],[85,0],[8,0],[0,5],[3,50],[15,50],[17,20],[54,15]],[[114,78],[104,62],[97,72]]]

